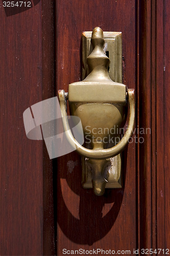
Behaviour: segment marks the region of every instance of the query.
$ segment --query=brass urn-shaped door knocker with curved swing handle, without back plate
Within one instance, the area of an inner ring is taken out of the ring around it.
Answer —
[[[76,147],[79,154],[85,157],[87,169],[91,171],[94,193],[100,196],[104,194],[106,184],[109,181],[108,166],[111,162],[109,158],[120,154],[132,136],[135,119],[135,97],[134,90],[127,89],[123,83],[114,82],[109,77],[110,60],[104,52],[105,40],[101,28],[96,27],[93,30],[91,44],[93,50],[87,57],[89,75],[83,81],[69,84],[68,94],[64,90],[59,90],[58,93],[67,140],[73,147]],[[92,148],[89,148],[89,145],[88,148],[81,146],[72,135],[66,113],[67,99],[71,115],[78,116],[81,119],[84,136],[89,135]],[[109,136],[119,136],[120,138],[117,130],[125,124],[127,101],[129,102],[128,128],[122,139],[117,144],[113,142],[110,147],[107,140]],[[111,132],[113,130],[116,131],[114,136]],[[121,162],[121,158],[119,158],[119,161]],[[117,186],[112,185],[111,187]]]

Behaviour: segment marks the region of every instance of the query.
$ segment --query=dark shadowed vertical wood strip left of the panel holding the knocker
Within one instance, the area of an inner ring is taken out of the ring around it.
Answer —
[[[36,2],[36,1],[35,1]],[[54,1],[42,5],[42,99],[54,97]],[[43,143],[43,255],[54,255],[53,162]]]

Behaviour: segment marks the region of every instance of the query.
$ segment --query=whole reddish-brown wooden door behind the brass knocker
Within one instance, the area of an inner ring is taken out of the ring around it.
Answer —
[[[1,2],[1,255],[169,253],[169,11],[167,0],[41,0],[18,13]],[[96,26],[122,32],[136,94],[123,188],[102,197],[81,187],[76,152],[50,160],[22,120],[81,79],[81,33]]]

